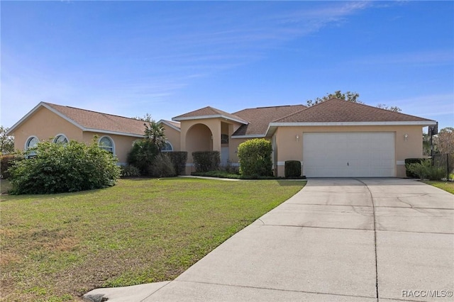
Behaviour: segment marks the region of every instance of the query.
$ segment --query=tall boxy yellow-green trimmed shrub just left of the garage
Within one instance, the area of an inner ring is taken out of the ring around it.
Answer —
[[[238,146],[240,174],[250,177],[272,176],[272,146],[269,140],[255,138]]]

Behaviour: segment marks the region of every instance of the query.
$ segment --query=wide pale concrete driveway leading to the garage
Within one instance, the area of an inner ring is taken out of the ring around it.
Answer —
[[[309,179],[175,281],[109,301],[454,301],[454,196],[409,179]]]

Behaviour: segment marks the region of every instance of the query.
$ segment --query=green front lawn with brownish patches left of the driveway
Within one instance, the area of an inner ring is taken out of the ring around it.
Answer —
[[[1,298],[70,301],[175,279],[304,181],[122,179],[72,194],[1,195]]]

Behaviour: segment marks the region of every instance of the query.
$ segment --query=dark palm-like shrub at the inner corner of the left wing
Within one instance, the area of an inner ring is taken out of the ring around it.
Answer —
[[[128,154],[127,162],[138,167],[140,174],[150,175],[150,165],[158,153],[159,150],[151,140],[136,140]]]

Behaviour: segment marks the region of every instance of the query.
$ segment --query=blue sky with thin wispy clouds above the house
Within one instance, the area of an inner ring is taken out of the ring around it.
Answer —
[[[336,90],[454,126],[453,1],[1,1],[1,125],[40,101],[171,119]]]

